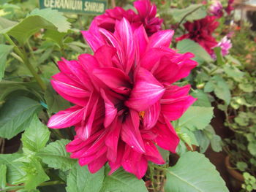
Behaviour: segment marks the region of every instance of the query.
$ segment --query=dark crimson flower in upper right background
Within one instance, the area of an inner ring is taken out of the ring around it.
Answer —
[[[206,16],[206,18],[195,20],[193,23],[187,21],[184,23],[184,27],[188,33],[181,37],[176,38],[176,41],[183,39],[192,39],[199,43],[210,55],[213,53],[212,48],[215,47],[218,42],[212,36],[214,30],[219,26],[215,16]]]

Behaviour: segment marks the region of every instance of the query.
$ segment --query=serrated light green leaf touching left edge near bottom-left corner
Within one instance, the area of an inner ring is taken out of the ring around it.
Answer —
[[[7,166],[7,183],[12,184],[23,178],[26,173],[23,171],[21,162],[15,161],[20,158],[21,154],[0,154],[0,164]]]

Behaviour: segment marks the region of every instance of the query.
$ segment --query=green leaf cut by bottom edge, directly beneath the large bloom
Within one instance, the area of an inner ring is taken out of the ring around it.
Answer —
[[[118,191],[118,192],[147,192],[143,180],[138,180],[135,175],[125,172],[124,169],[118,169],[111,175],[108,175],[110,168],[105,168],[105,178],[100,192]]]

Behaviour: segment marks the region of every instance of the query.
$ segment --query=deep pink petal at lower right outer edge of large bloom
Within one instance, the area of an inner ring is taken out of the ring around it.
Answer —
[[[159,147],[162,147],[165,150],[170,150],[172,153],[176,153],[179,138],[170,122],[167,120],[165,120],[165,123],[158,122],[153,131],[157,134],[155,142]]]

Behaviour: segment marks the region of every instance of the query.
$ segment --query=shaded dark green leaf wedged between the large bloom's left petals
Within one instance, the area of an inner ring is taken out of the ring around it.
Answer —
[[[47,86],[47,90],[45,91],[45,101],[50,113],[66,110],[70,107],[69,102],[59,96],[50,84]]]

